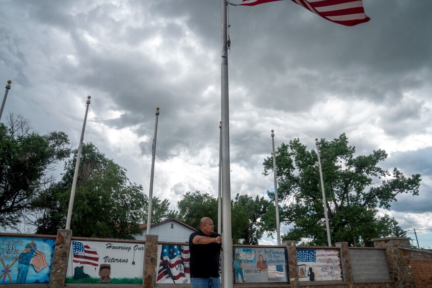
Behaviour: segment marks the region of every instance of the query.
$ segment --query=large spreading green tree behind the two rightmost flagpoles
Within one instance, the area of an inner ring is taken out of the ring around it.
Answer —
[[[319,142],[326,207],[333,242],[371,245],[370,239],[394,231],[394,219],[378,217],[378,208],[389,209],[402,193],[418,195],[420,175],[406,177],[397,168],[392,173],[378,166],[387,154],[378,149],[355,156],[345,133],[332,141]],[[315,150],[294,139],[275,152],[281,219],[293,228],[284,239],[310,245],[326,245],[323,198]],[[264,175],[273,173],[273,159],[264,160]],[[274,193],[269,193],[274,199]]]

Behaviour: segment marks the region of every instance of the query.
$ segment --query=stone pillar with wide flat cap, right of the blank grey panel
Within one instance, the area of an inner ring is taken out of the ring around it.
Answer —
[[[383,237],[374,238],[374,246],[385,249],[390,279],[395,282],[396,288],[414,288],[414,278],[409,266],[409,260],[404,259],[400,247],[409,248],[409,237]]]

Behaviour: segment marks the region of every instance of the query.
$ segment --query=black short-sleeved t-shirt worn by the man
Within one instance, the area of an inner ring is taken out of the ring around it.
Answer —
[[[216,238],[220,235],[213,233],[212,235],[207,236],[201,230],[190,234],[190,278],[219,277],[220,247],[222,244],[214,242],[209,244],[193,244],[192,240],[195,236]]]

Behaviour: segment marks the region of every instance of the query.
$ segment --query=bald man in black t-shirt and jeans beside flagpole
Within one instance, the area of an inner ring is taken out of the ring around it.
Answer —
[[[192,288],[220,288],[219,258],[222,237],[214,233],[212,219],[204,217],[199,231],[189,236]]]

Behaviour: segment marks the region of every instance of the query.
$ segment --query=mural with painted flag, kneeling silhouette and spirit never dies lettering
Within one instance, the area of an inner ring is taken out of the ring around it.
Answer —
[[[339,249],[298,249],[297,269],[300,281],[342,281]]]

